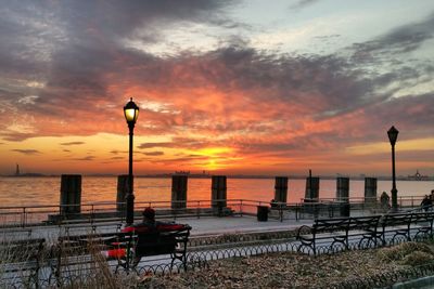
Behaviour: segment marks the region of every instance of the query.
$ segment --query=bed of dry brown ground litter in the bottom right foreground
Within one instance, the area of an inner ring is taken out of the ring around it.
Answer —
[[[344,280],[432,261],[431,248],[414,242],[319,257],[271,253],[218,260],[206,270],[187,274],[149,277],[141,288],[333,288]]]

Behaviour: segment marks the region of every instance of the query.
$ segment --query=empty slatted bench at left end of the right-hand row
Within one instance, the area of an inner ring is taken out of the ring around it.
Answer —
[[[304,225],[297,229],[296,239],[301,241],[297,251],[302,251],[304,247],[307,247],[312,250],[314,254],[317,254],[318,241],[330,242],[329,250],[336,244],[349,249],[348,240],[350,236],[360,236],[358,247],[363,241],[367,241],[368,246],[371,241],[376,245],[379,220],[380,215],[316,219],[312,226]]]

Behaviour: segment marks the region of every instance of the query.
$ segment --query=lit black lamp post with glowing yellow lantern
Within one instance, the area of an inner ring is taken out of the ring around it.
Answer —
[[[129,161],[128,161],[128,194],[127,201],[127,225],[131,225],[135,219],[135,194],[132,184],[132,135],[137,118],[139,117],[139,107],[130,101],[124,106],[124,115],[129,128]]]

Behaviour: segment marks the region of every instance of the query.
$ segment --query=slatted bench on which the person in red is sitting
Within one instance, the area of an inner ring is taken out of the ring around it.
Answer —
[[[117,261],[115,271],[120,267],[129,271],[138,265],[142,257],[170,254],[170,266],[176,260],[180,260],[187,270],[190,229],[189,225],[178,225],[177,228],[157,232],[115,232],[59,237],[51,254],[52,276],[60,280],[65,267],[86,265],[93,262],[95,257]]]

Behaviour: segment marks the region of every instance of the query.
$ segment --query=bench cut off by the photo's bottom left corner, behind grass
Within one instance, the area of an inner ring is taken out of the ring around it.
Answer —
[[[2,279],[8,276],[16,284],[39,287],[39,271],[44,257],[44,238],[3,240],[0,242],[0,272]],[[11,286],[15,286],[11,284]],[[3,286],[5,286],[3,284]]]

